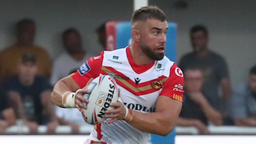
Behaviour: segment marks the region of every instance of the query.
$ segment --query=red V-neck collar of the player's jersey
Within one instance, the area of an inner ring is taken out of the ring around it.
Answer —
[[[127,58],[128,58],[128,61],[131,65],[132,69],[137,74],[141,74],[141,73],[144,73],[145,71],[149,70],[155,63],[155,61],[153,61],[152,63],[147,64],[147,65],[138,65],[138,64],[136,64],[135,61],[133,61],[133,59],[132,59],[132,55],[131,55],[129,47],[126,48],[126,54],[127,54]]]

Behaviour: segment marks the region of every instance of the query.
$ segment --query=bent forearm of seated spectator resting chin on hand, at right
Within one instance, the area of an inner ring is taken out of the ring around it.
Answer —
[[[208,120],[210,120],[214,125],[222,125],[221,114],[212,108],[206,100],[202,101],[200,105]]]

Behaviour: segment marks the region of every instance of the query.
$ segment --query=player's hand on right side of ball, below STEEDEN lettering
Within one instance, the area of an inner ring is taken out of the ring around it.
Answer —
[[[118,89],[118,97],[120,97],[120,89]],[[105,112],[105,118],[112,118],[112,120],[107,121],[106,124],[113,123],[116,120],[124,119],[126,114],[126,108],[120,101],[117,101],[116,103],[111,103],[110,106],[114,107],[115,109],[107,110]]]

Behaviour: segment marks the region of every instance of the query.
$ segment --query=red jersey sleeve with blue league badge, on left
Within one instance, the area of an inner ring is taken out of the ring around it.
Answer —
[[[91,57],[85,61],[75,73],[71,74],[71,77],[80,88],[85,87],[90,78],[96,78],[99,76],[103,61],[103,54],[104,51],[102,51],[98,56]]]

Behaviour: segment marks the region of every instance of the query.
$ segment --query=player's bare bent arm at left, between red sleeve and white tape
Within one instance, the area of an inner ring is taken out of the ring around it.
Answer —
[[[76,84],[71,76],[67,76],[61,80],[59,80],[52,91],[51,100],[53,103],[58,105],[59,107],[64,107],[62,104],[62,95],[66,91],[75,92],[80,87]]]

